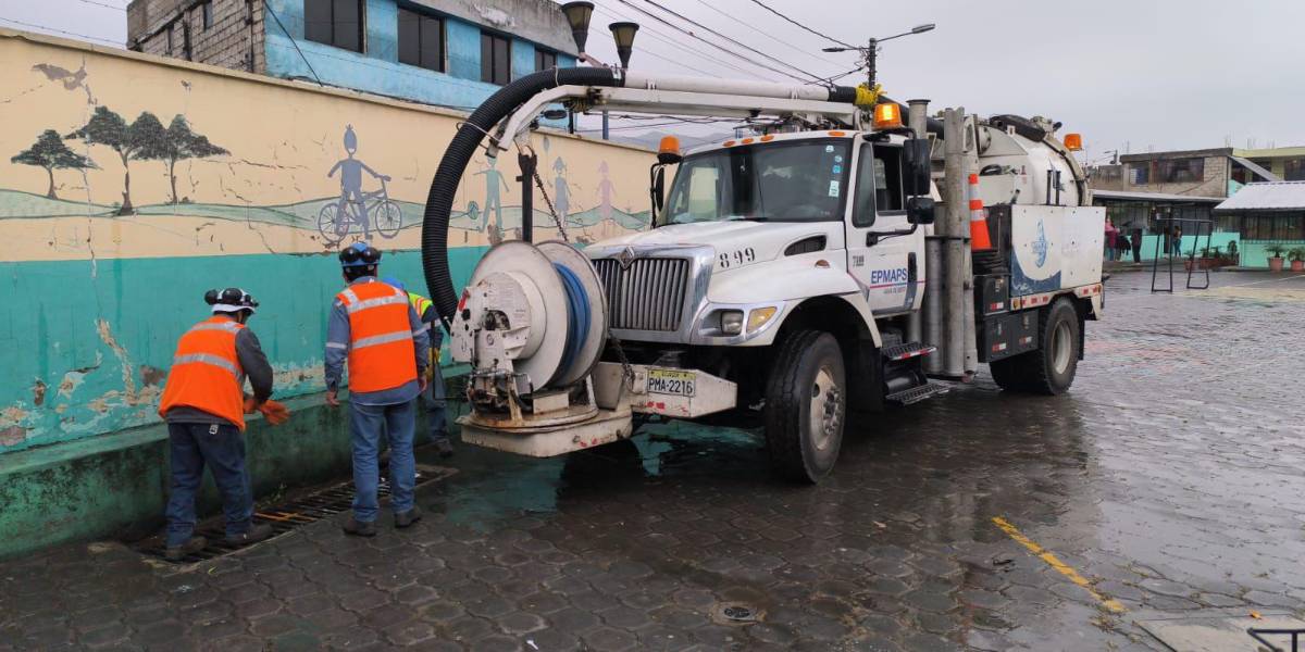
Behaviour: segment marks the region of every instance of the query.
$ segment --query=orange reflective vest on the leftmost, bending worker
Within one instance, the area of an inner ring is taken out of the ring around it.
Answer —
[[[236,334],[241,330],[240,322],[213,317],[181,335],[159,416],[184,406],[226,419],[244,430],[244,369],[236,356]]]

